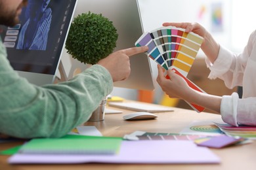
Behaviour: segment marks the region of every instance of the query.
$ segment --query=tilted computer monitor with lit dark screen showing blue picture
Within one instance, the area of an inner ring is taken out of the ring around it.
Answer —
[[[37,85],[53,82],[76,3],[77,0],[28,0],[20,24],[1,25],[8,59],[20,76]]]

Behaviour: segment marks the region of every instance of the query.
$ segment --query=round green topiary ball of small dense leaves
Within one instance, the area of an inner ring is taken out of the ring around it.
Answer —
[[[66,41],[68,54],[82,63],[95,64],[116,47],[117,29],[102,14],[79,14],[70,25]]]

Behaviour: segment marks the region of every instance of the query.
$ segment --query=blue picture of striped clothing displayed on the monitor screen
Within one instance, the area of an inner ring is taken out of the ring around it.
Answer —
[[[17,49],[46,50],[52,21],[51,0],[28,1],[20,20],[26,20],[20,30]]]

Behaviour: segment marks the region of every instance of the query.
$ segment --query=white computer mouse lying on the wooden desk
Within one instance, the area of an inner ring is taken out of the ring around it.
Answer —
[[[123,116],[125,120],[146,120],[157,118],[156,114],[150,112],[132,112]]]

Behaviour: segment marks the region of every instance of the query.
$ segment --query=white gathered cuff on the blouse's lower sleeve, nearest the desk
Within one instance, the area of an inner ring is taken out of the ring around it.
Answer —
[[[238,93],[232,95],[223,95],[221,101],[221,118],[227,124],[238,126],[237,122],[237,108],[238,108]]]

